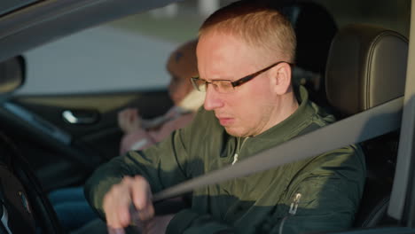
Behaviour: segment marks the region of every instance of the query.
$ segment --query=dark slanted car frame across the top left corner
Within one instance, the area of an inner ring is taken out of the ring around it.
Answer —
[[[122,16],[145,12],[177,0],[2,0],[0,61],[43,43]],[[19,8],[19,9],[18,9]]]

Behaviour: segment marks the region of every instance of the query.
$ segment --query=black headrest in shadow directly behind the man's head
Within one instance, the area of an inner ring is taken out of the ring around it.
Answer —
[[[325,65],[337,26],[321,4],[306,1],[270,1],[294,27],[297,36],[293,83],[304,85],[309,98],[326,106]]]

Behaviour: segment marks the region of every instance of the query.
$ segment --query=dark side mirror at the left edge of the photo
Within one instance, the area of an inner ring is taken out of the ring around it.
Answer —
[[[20,88],[25,81],[25,59],[21,56],[0,62],[0,95]]]

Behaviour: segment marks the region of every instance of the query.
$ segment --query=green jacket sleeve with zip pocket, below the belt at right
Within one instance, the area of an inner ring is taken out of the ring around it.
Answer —
[[[270,233],[338,231],[353,224],[364,189],[364,155],[360,147],[352,145],[321,155],[308,167],[313,168],[313,164],[320,167],[307,171],[293,183],[286,196],[286,215],[280,216],[278,222],[274,220],[277,225],[270,225]],[[297,194],[301,199],[296,204]]]

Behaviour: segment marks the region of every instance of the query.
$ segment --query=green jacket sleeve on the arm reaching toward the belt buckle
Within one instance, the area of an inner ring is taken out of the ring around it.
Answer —
[[[104,196],[114,184],[121,182],[124,175],[143,175],[153,193],[186,180],[186,168],[191,161],[184,144],[188,130],[177,130],[160,144],[142,152],[128,152],[100,166],[84,186],[85,197],[91,207],[104,218]]]

